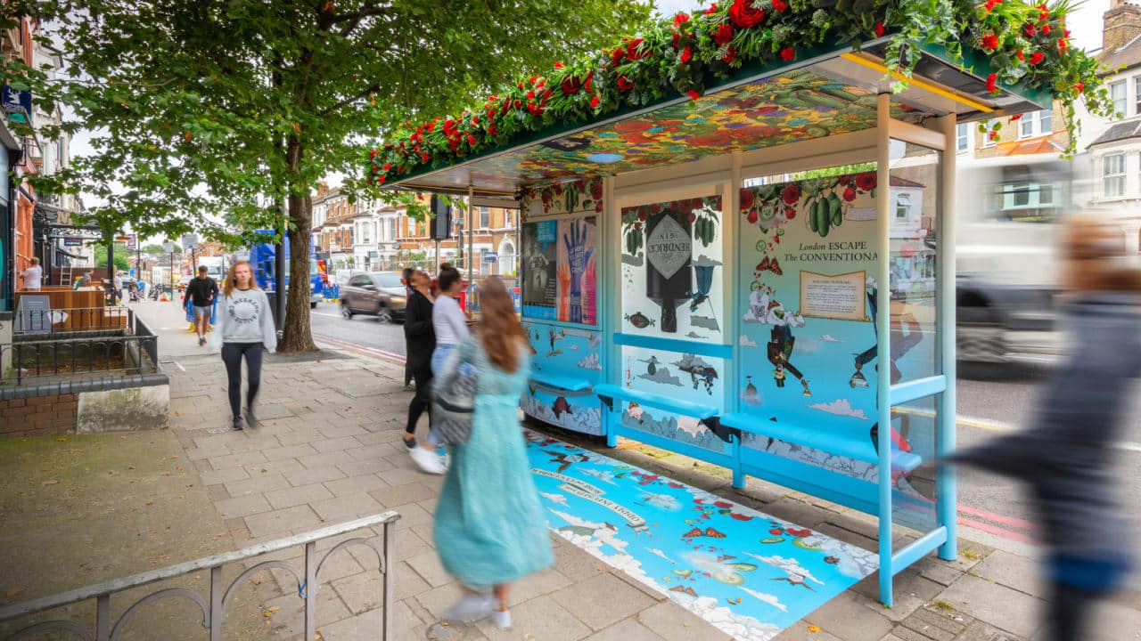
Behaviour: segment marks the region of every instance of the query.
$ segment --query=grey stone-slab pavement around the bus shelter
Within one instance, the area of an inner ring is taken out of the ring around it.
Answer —
[[[513,630],[501,632],[486,622],[470,628],[435,625],[459,590],[432,549],[431,512],[442,478],[420,473],[399,444],[408,400],[402,391],[403,366],[338,350],[313,357],[269,356],[258,409],[262,425],[211,433],[225,428],[229,417],[220,359],[197,347],[178,303],[146,302],[135,309],[161,335],[163,368],[171,379],[171,430],[237,545],[385,510],[400,513],[395,569],[398,639],[728,639],[557,536],[552,537],[556,566],[512,590]],[[648,447],[605,454],[874,550],[875,521],[866,516],[755,480],[738,492],[720,469]],[[901,573],[892,609],[876,601],[873,574],[776,639],[1042,639],[1038,620],[1045,602],[1035,561],[1019,550],[970,541],[962,541],[960,550],[955,562],[928,558]],[[323,639],[375,638],[379,577],[366,571],[375,567],[374,558],[353,549],[332,568],[321,591]],[[281,597],[264,603],[272,612],[269,628],[274,638],[293,639],[301,623],[297,586],[284,575],[276,575],[276,581]],[[1141,595],[1125,595],[1094,618],[1102,628],[1100,638],[1141,639]]]

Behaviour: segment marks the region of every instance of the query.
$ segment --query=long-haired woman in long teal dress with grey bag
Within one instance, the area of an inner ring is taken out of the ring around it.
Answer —
[[[467,591],[444,618],[491,616],[510,627],[509,584],[547,568],[555,554],[519,424],[519,397],[531,371],[527,341],[503,283],[492,277],[482,290],[477,332],[444,365],[471,363],[478,382],[471,437],[450,448],[435,539],[444,568]]]

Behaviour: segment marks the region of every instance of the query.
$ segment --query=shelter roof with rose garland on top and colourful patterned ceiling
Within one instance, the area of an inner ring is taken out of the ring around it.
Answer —
[[[986,97],[1022,91],[1057,98],[1073,146],[1078,102],[1095,115],[1114,108],[1099,63],[1070,47],[1068,11],[1066,0],[723,1],[556,63],[548,74],[523,79],[460,114],[408,123],[370,151],[369,176],[391,185],[486,157],[470,165],[468,179],[508,175],[517,188],[629,171],[654,164],[655,154],[677,163],[864,129],[874,125],[874,95],[826,74],[794,71],[843,48],[876,51],[882,68],[899,79],[911,78],[934,48],[985,83]],[[751,82],[734,87],[730,81],[743,75]],[[791,90],[782,87],[788,84]],[[990,115],[1009,115],[994,105],[986,109]],[[1021,102],[1020,111],[1041,106]],[[621,120],[624,114],[630,117]],[[558,135],[576,128],[582,131]],[[531,145],[526,153],[520,147],[544,138],[545,146]]]

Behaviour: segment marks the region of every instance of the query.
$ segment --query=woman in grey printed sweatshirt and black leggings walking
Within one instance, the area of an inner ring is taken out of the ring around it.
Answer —
[[[211,344],[221,350],[229,386],[234,429],[242,429],[242,358],[245,358],[245,423],[258,425],[253,401],[261,386],[261,352],[277,349],[277,332],[269,299],[253,282],[253,268],[240,260],[229,268],[218,299],[218,325]]]

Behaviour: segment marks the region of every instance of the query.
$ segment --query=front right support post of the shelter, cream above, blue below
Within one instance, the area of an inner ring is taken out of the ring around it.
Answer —
[[[876,184],[881,188],[875,197],[875,234],[880,258],[875,265],[876,297],[875,334],[880,355],[891,354],[891,94],[880,94],[876,102]],[[881,363],[885,359],[881,357]],[[892,535],[891,535],[891,367],[876,368],[876,421],[880,425],[876,446],[880,454],[880,601],[892,603]]]

